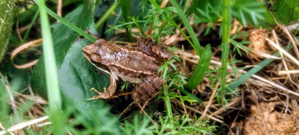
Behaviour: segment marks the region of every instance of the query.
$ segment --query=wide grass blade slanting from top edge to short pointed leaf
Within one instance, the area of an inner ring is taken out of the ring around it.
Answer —
[[[186,30],[188,31],[188,33],[192,39],[192,42],[194,43],[193,48],[196,52],[199,53],[199,56],[200,56],[200,54],[202,53],[202,48],[200,47],[199,41],[196,37],[196,34],[195,34],[192,26],[189,23],[189,20],[187,19],[187,16],[184,14],[184,11],[181,9],[180,5],[175,0],[169,0],[169,1],[172,4],[172,6],[175,7],[176,10],[178,11],[180,19],[183,22],[183,24],[185,25]]]

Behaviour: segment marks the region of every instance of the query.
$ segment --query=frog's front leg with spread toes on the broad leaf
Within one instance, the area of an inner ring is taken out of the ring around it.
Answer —
[[[91,90],[94,90],[99,95],[93,96],[91,99],[88,99],[88,100],[92,100],[92,99],[111,99],[111,98],[118,97],[118,96],[113,96],[116,88],[117,88],[116,87],[116,79],[112,75],[110,75],[110,86],[108,87],[108,89],[105,90],[104,92],[100,92],[100,91],[96,90],[95,88],[91,88]]]

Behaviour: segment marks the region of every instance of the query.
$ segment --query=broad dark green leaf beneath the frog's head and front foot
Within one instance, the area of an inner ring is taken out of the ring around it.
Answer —
[[[82,30],[89,30],[91,34],[96,34],[92,11],[86,1],[65,16],[65,19]],[[101,116],[94,116],[95,111],[109,108],[106,100],[86,100],[96,95],[91,91],[92,87],[103,90],[110,84],[108,75],[98,75],[96,68],[83,56],[82,48],[91,44],[87,39],[79,39],[79,34],[71,30],[64,24],[53,25],[53,41],[57,60],[57,70],[59,76],[60,89],[64,105],[73,105],[76,112],[88,116],[87,121],[93,128],[95,125],[109,127],[110,130],[102,134],[119,134],[119,123],[109,112]],[[43,58],[39,60],[33,69],[31,86],[35,93],[46,98],[45,71]],[[100,117],[100,119],[99,119]],[[95,124],[96,123],[96,124]],[[109,123],[107,125],[107,123]]]

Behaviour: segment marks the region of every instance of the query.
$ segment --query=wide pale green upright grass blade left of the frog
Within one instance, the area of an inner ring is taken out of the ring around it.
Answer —
[[[54,46],[52,41],[50,23],[45,9],[45,0],[40,1],[40,20],[43,39],[43,55],[45,63],[45,75],[50,107],[50,121],[53,124],[54,134],[63,134],[63,121],[61,118],[61,95],[58,83],[58,74]]]

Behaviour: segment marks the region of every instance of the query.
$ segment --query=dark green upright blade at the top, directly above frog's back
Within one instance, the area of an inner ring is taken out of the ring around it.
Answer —
[[[120,1],[121,10],[123,12],[123,19],[125,22],[130,22],[130,9],[131,9],[131,0],[121,0]],[[129,31],[128,27],[125,27],[126,35],[129,42],[133,42],[132,32]]]

